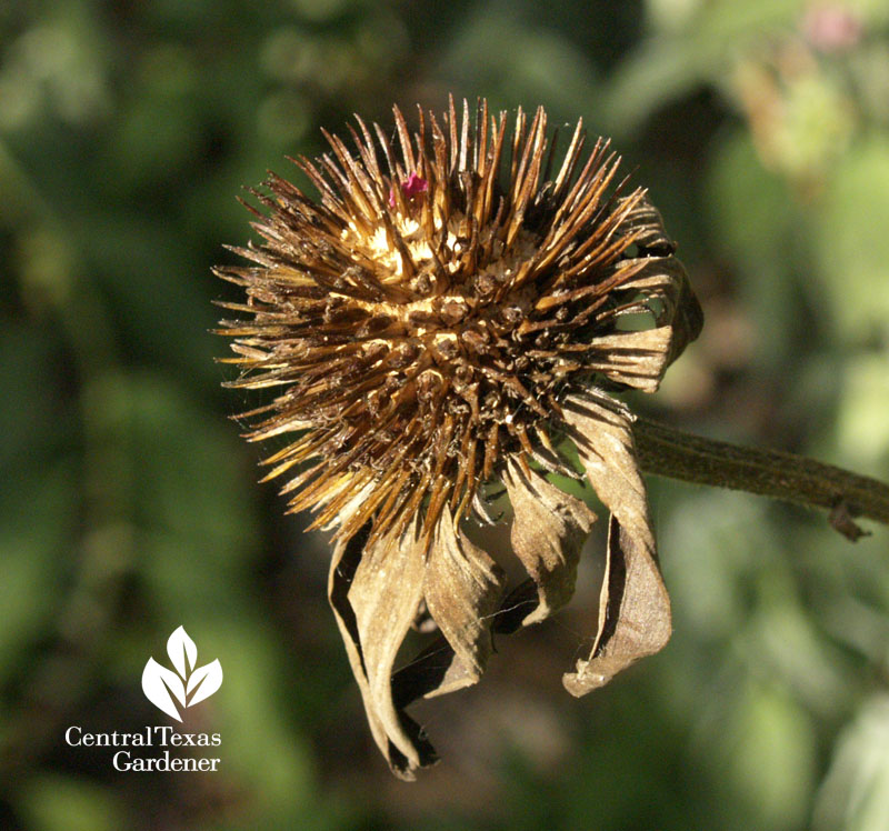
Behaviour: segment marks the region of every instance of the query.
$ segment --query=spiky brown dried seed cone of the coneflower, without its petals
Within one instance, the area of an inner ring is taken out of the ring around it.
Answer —
[[[248,438],[299,434],[269,475],[316,460],[287,485],[291,509],[342,538],[368,520],[374,538],[403,531],[417,511],[428,534],[444,505],[459,519],[506,460],[543,453],[570,384],[649,389],[671,358],[613,350],[621,319],[663,317],[676,287],[652,279],[648,254],[672,246],[645,193],[616,189],[608,142],[583,161],[578,123],[550,180],[542,108],[509,134],[506,113],[465,102],[460,123],[451,101],[443,124],[420,111],[413,141],[394,117],[397,147],[358,119],[354,150],[326,133],[330,153],[297,161],[320,204],[271,176],[264,243],[238,249],[256,264],[219,270],[252,316],[224,321],[232,386],[281,390],[247,413]]]

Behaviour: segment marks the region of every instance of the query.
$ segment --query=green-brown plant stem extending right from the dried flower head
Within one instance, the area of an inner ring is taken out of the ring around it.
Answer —
[[[777,450],[706,439],[639,418],[633,423],[639,463],[648,473],[800,502],[831,511],[831,524],[861,535],[852,517],[889,524],[889,485],[832,464]]]

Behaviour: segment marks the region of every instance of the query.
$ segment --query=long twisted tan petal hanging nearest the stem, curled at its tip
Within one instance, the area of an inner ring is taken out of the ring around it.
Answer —
[[[631,417],[617,402],[587,394],[568,397],[562,410],[587,478],[611,511],[596,641],[589,659],[562,679],[570,693],[582,695],[666,645],[670,599],[658,568]]]

